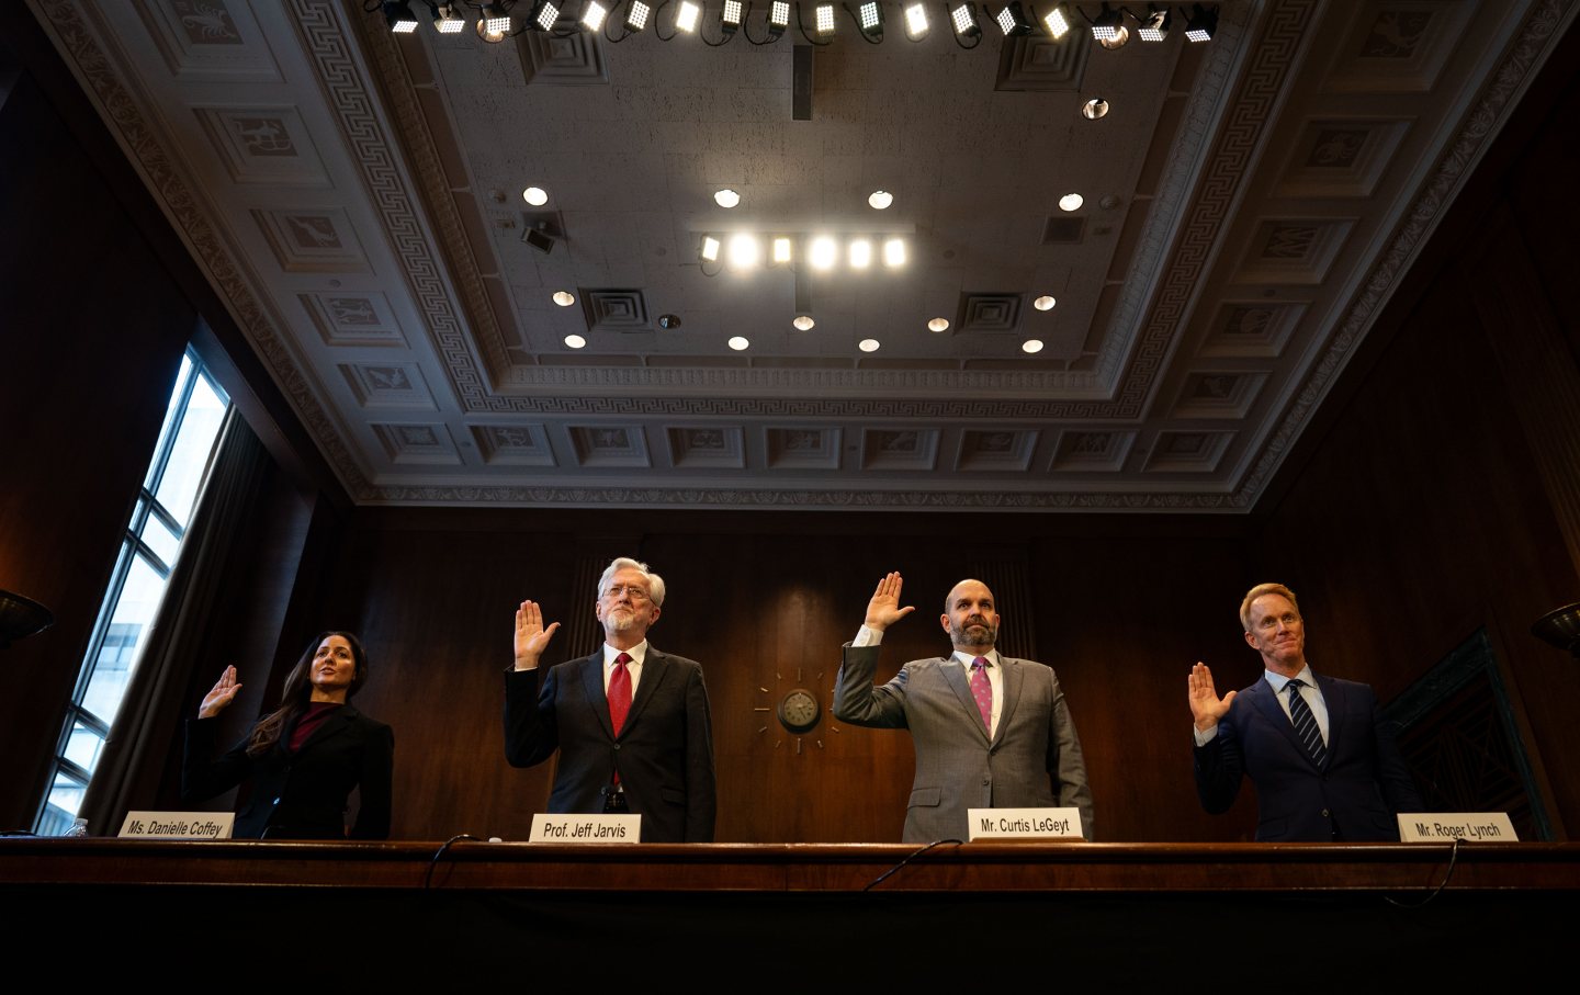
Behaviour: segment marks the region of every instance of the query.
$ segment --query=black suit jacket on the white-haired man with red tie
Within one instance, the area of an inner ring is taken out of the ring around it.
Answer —
[[[713,722],[702,665],[648,644],[626,725],[615,736],[604,651],[504,676],[504,755],[529,768],[559,750],[550,812],[602,812],[619,771],[645,843],[713,842]],[[542,687],[539,687],[542,681]]]

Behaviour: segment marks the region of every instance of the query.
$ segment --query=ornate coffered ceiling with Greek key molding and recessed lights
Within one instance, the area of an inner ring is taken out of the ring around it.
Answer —
[[[1577,8],[1231,0],[1206,44],[988,25],[965,51],[890,3],[883,44],[841,14],[812,49],[796,120],[793,30],[485,44],[330,0],[30,3],[362,504],[1226,513]],[[743,231],[907,262],[698,257]]]

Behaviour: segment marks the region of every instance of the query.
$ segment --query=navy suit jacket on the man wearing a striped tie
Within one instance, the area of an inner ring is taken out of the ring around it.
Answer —
[[[1226,810],[1248,775],[1258,840],[1398,840],[1394,815],[1424,805],[1376,695],[1367,684],[1313,674],[1327,703],[1324,764],[1307,753],[1267,679],[1258,679],[1234,696],[1212,742],[1196,747],[1202,807]]]

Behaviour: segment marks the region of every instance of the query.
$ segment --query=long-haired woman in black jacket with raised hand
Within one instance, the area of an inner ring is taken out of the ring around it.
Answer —
[[[251,779],[253,793],[235,815],[235,839],[343,840],[346,799],[362,788],[349,835],[390,834],[395,734],[348,700],[368,679],[368,657],[349,632],[325,632],[308,644],[286,678],[280,708],[251,734],[213,760],[218,715],[242,685],[226,666],[186,722],[182,801],[194,802]]]

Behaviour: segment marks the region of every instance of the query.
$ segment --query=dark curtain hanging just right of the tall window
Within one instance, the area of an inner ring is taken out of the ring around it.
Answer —
[[[104,742],[82,815],[93,835],[114,835],[131,809],[150,809],[177,742],[193,668],[210,655],[210,619],[232,551],[253,520],[269,453],[235,411],[171,570],[164,600]]]

